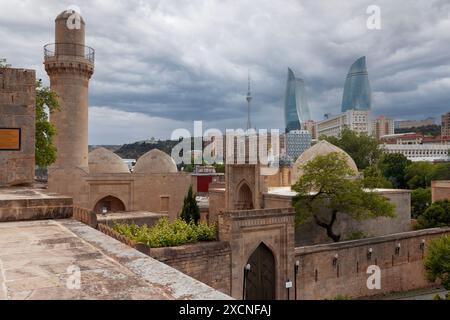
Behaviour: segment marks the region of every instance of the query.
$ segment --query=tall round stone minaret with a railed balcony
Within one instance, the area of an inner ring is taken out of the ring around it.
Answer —
[[[79,194],[75,180],[88,173],[88,87],[94,72],[94,50],[85,46],[85,23],[73,10],[55,20],[55,43],[45,46],[45,70],[59,97],[60,111],[51,115],[57,134],[57,160],[49,168],[49,189]]]

